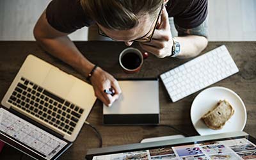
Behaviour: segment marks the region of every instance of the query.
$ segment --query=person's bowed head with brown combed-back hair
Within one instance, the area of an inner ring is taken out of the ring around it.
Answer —
[[[166,1],[166,0],[165,0]],[[81,0],[99,31],[131,45],[152,35],[164,0]]]

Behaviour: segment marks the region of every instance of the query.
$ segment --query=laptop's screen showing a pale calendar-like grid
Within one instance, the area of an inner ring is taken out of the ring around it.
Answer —
[[[0,108],[0,139],[37,159],[55,159],[70,146],[68,141]]]

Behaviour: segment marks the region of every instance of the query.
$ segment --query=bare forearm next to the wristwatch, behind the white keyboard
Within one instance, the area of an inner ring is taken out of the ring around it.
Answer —
[[[180,54],[177,58],[191,58],[202,52],[208,44],[204,36],[177,36],[175,40],[180,43]]]

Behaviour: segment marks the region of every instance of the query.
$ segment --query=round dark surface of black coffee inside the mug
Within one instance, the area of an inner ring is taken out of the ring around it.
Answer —
[[[134,52],[127,52],[122,56],[121,62],[125,68],[132,70],[140,66],[141,58]]]

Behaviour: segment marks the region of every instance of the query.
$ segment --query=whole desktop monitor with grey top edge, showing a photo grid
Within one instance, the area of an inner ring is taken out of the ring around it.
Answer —
[[[88,150],[87,160],[256,159],[256,139],[246,132],[192,136]]]

